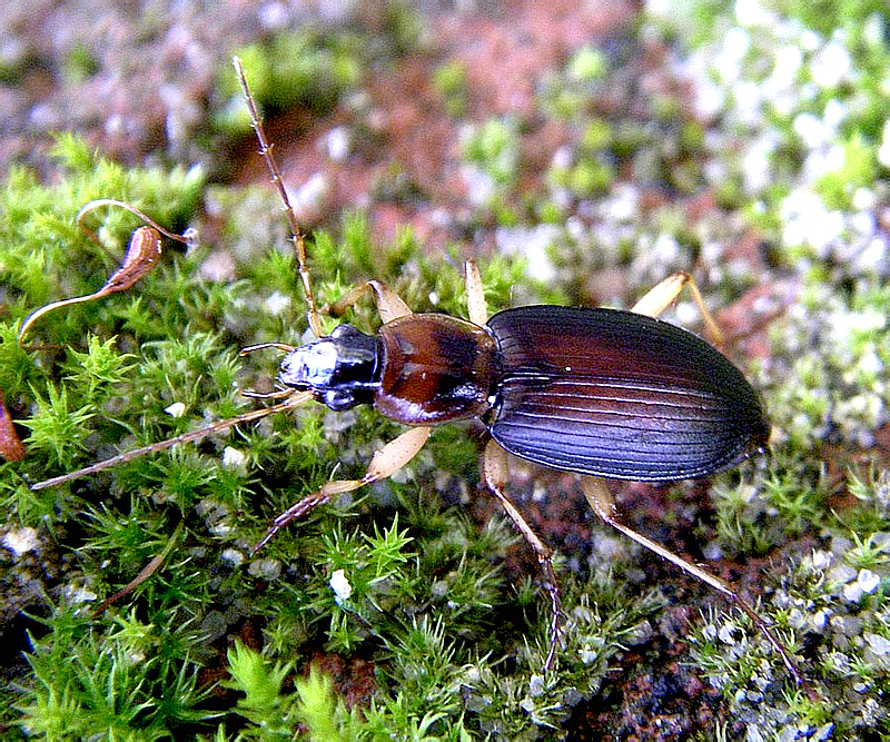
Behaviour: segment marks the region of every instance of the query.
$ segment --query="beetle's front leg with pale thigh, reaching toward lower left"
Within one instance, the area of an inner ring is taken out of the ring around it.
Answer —
[[[366,484],[372,484],[373,482],[385,479],[390,476],[417,455],[417,452],[423,448],[428,437],[428,427],[408,428],[405,433],[387,443],[374,454],[367,472],[365,472],[365,475],[360,479],[334,479],[333,482],[326,483],[310,495],[306,495],[299,502],[294,503],[271,522],[266,535],[254,546],[253,552],[263,548],[263,546],[288,523],[303,517],[317,505],[327,503],[334,495],[353,492]]]

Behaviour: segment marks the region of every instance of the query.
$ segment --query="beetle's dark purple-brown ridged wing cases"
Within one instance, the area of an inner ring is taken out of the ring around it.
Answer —
[[[532,306],[494,315],[488,418],[510,453],[557,469],[666,482],[762,449],[760,398],[723,355],[631,311]]]

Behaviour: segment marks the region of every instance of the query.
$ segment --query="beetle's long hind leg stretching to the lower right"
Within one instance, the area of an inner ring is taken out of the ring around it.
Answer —
[[[797,663],[791,656],[791,653],[785,649],[784,644],[782,644],[782,642],[775,637],[775,635],[772,633],[772,630],[767,625],[767,622],[763,621],[760,615],[758,615],[756,611],[754,611],[754,609],[746,601],[744,601],[742,596],[730,586],[729,583],[703,570],[698,564],[684,560],[682,556],[679,556],[678,554],[666,550],[661,544],[646,538],[644,535],[619,522],[615,517],[615,503],[612,499],[612,495],[609,493],[609,488],[601,478],[595,476],[582,476],[581,487],[584,491],[584,496],[587,498],[591,507],[604,523],[611,525],[613,528],[620,531],[629,538],[632,538],[641,546],[645,546],[647,550],[654,552],[663,560],[666,560],[671,564],[680,567],[684,572],[688,572],[692,576],[698,577],[703,583],[728,596],[736,605],[736,607],[742,611],[742,613],[751,619],[754,626],[756,626],[756,629],[767,637],[767,641],[772,644],[772,647],[782,657],[782,662],[788,669],[788,672],[791,673],[791,676],[794,679],[798,685],[801,686],[811,699],[818,698],[814,691],[810,687],[809,683],[807,683],[807,680],[803,677],[801,672],[798,670]]]

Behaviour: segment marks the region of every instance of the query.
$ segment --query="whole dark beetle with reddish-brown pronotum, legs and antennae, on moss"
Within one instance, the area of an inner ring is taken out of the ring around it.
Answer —
[[[630,311],[532,306],[488,317],[478,269],[469,261],[468,320],[413,314],[377,280],[365,281],[339,301],[319,308],[299,224],[240,62],[236,58],[234,63],[260,155],[289,220],[309,326],[317,339],[301,347],[271,343],[243,350],[247,354],[275,347],[286,353],[278,390],[251,395],[280,402],[40,482],[33,488],[294,409],[309,399],[334,410],[372,404],[408,426],[375,453],[364,476],[328,482],[276,517],[255,547],[259,548],[279,528],[333,496],[388,477],[403,467],[424,446],[433,426],[479,417],[490,434],[482,455],[482,482],[501,502],[544,571],[552,615],[545,669],[553,666],[558,645],[558,585],[551,550],[505,494],[507,453],[581,475],[589,503],[605,523],[730,597],[812,695],[790,652],[753,607],[722,580],[619,522],[600,478],[693,478],[731,467],[767,446],[765,412],[741,372],[695,335],[654,318],[683,287],[689,287],[710,332],[719,334],[690,277],[670,276]],[[340,316],[368,293],[383,320],[376,335],[344,324],[324,336],[322,314]]]

